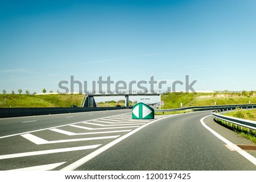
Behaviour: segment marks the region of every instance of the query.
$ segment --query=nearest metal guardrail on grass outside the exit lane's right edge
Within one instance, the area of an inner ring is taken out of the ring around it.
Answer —
[[[230,117],[228,115],[217,114],[216,112],[217,112],[217,110],[212,112],[212,116],[214,118],[233,123],[234,125],[246,127],[247,129],[256,130],[256,122],[254,122],[254,121],[250,121],[247,119],[234,118],[234,117]]]

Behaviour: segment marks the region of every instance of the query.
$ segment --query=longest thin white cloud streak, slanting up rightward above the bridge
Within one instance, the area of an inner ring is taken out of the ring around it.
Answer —
[[[125,60],[125,59],[131,59],[131,58],[135,58],[135,57],[147,57],[147,56],[155,56],[155,55],[161,55],[161,53],[152,53],[152,54],[148,54],[148,55],[137,55],[137,56],[129,56],[129,57],[118,57],[118,58],[114,58],[114,59],[95,60],[95,61],[88,61],[85,63],[78,63],[78,64],[58,65],[56,67],[51,67],[51,68],[71,67],[71,66],[94,64],[94,63],[104,63],[104,62],[108,62],[108,61]]]

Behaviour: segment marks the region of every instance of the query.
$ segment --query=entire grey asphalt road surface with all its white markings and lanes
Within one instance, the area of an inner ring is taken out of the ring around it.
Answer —
[[[0,170],[255,170],[255,151],[236,146],[251,142],[210,113],[151,120],[133,120],[131,110],[2,118]]]

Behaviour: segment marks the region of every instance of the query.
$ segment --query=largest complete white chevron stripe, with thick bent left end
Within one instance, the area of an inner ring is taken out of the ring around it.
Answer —
[[[42,139],[40,137],[36,137],[35,135],[32,134],[24,134],[20,135],[27,140],[30,140],[30,142],[33,142],[35,144],[51,144],[51,143],[65,143],[65,142],[79,142],[79,141],[88,141],[88,140],[101,140],[101,139],[111,139],[111,138],[118,138],[120,135],[115,135],[115,136],[107,136],[107,137],[92,137],[92,138],[76,138],[76,139],[65,139],[65,140],[53,140],[53,141],[48,141],[45,139]]]

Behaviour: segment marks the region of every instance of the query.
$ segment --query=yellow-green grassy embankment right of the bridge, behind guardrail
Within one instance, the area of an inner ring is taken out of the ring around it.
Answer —
[[[164,101],[163,109],[179,108],[180,103],[183,107],[189,106],[212,106],[214,102],[216,105],[233,105],[233,104],[251,104],[256,103],[255,92],[242,92],[242,93],[189,93],[175,95],[174,93],[163,94],[162,100]]]

